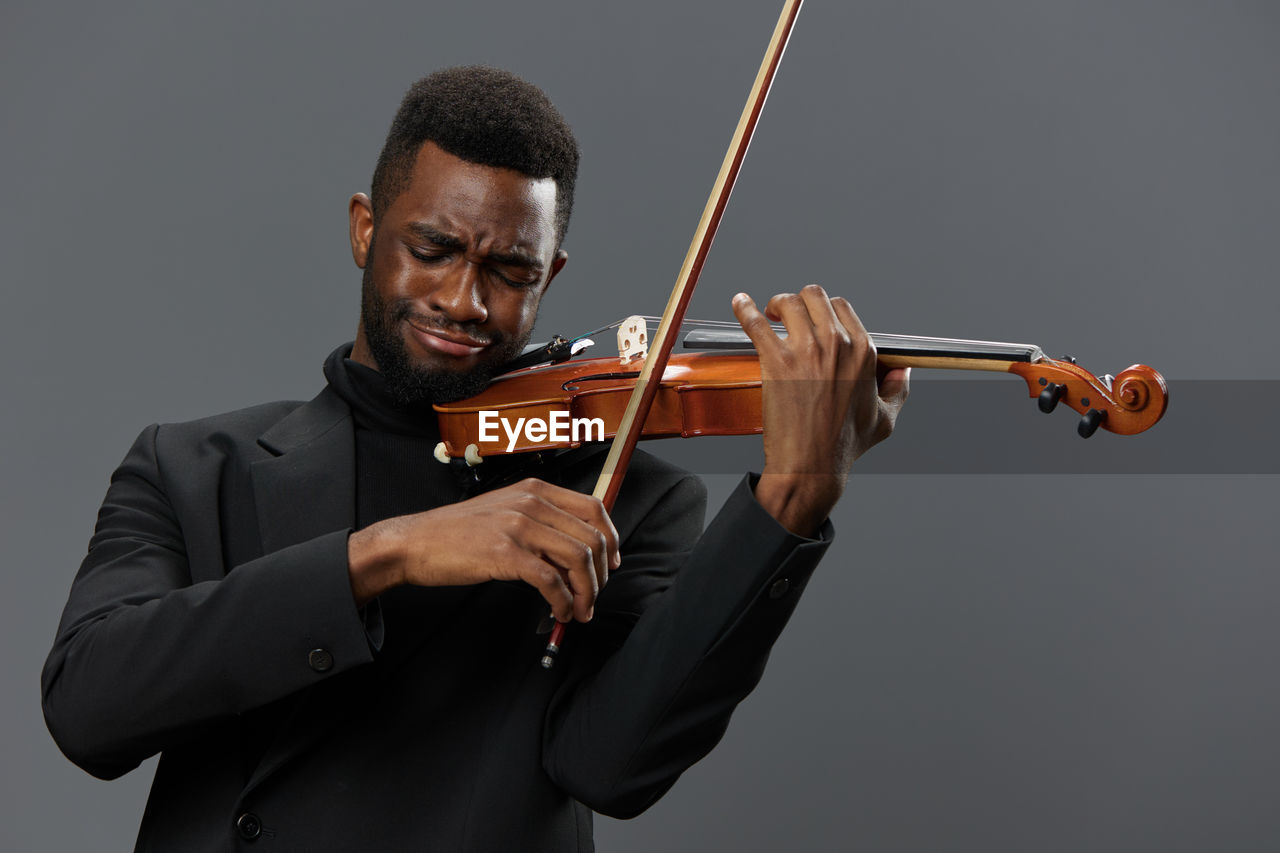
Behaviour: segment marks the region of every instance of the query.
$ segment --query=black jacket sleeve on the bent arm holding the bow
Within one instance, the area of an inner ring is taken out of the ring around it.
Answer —
[[[59,748],[102,779],[372,660],[347,530],[192,583],[150,426],[111,476],[41,678]]]

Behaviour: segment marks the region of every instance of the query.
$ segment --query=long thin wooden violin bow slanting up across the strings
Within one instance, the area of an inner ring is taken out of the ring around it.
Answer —
[[[724,207],[728,206],[728,197],[733,192],[733,183],[737,181],[737,173],[742,168],[742,160],[746,158],[746,149],[751,145],[755,124],[760,118],[760,111],[764,109],[764,101],[769,96],[769,87],[773,86],[773,76],[782,61],[782,54],[786,51],[787,40],[791,37],[791,28],[795,24],[796,15],[800,14],[803,3],[804,0],[786,0],[782,6],[782,14],[778,15],[778,23],[773,28],[773,37],[769,38],[769,46],[764,51],[764,59],[760,60],[760,69],[755,74],[751,92],[746,97],[746,106],[742,108],[742,114],[737,119],[733,138],[730,141],[728,151],[721,163],[719,174],[716,175],[716,183],[712,186],[710,197],[707,199],[707,206],[703,207],[703,216],[694,231],[694,238],[689,245],[689,252],[685,255],[685,263],[676,277],[676,286],[671,291],[671,298],[667,300],[667,309],[662,314],[662,323],[658,324],[658,330],[650,341],[649,355],[645,359],[644,368],[640,370],[640,378],[636,379],[635,391],[632,391],[631,398],[627,401],[627,409],[622,415],[618,434],[609,446],[609,455],[604,459],[604,469],[600,471],[600,479],[596,480],[595,491],[591,494],[604,503],[607,511],[613,511],[613,502],[618,497],[618,489],[622,488],[622,478],[626,475],[627,465],[631,462],[631,455],[635,452],[636,442],[640,439],[640,432],[649,415],[649,409],[658,394],[659,383],[650,382],[650,378],[654,375],[660,378],[667,368],[671,348],[676,343],[676,334],[672,334],[672,329],[680,329],[685,319],[685,310],[694,296],[698,277],[703,272],[707,254],[716,240],[716,229],[719,228]],[[559,653],[561,643],[564,638],[564,625],[567,622],[556,622],[556,626],[552,629],[547,651],[543,653],[544,669],[549,670],[556,663],[556,654]]]

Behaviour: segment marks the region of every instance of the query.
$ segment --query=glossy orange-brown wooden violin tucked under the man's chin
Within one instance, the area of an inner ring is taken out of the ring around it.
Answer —
[[[588,441],[613,438],[640,377],[639,361],[646,355],[644,320],[632,316],[616,324],[617,359],[568,357],[518,368],[494,379],[475,397],[434,406],[443,439],[436,459],[476,466],[486,456],[573,448]],[[692,351],[669,357],[641,438],[764,432],[760,362],[750,339],[732,323],[700,325],[684,338],[684,347]],[[1050,359],[1039,347],[1025,343],[876,333],[870,338],[884,368],[984,370],[1020,377],[1041,411],[1051,412],[1059,403],[1075,410],[1080,415],[1076,432],[1083,438],[1100,428],[1120,435],[1140,433],[1153,426],[1169,406],[1164,377],[1142,364],[1116,377],[1097,377],[1071,357]],[[564,338],[557,338],[561,352],[563,342]],[[556,345],[539,350],[557,357]],[[527,428],[535,424],[543,426]],[[563,429],[554,429],[556,425]],[[577,429],[579,425],[582,428]]]

